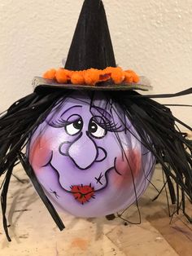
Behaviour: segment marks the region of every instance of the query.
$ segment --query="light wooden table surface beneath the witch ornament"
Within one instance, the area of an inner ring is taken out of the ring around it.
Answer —
[[[24,170],[17,167],[14,173],[25,183],[11,179],[7,218],[12,241],[7,241],[0,224],[1,256],[192,255],[192,225],[182,214],[174,216],[170,223],[165,192],[152,201],[157,194],[152,186],[139,201],[142,224],[125,226],[120,218],[108,221],[60,214],[66,228],[59,232]],[[162,186],[159,166],[153,183],[159,189]],[[135,205],[126,210],[124,218],[138,222]]]

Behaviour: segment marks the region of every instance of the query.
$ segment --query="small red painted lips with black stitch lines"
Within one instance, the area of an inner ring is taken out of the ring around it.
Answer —
[[[71,192],[76,201],[80,202],[81,205],[89,202],[89,199],[95,198],[94,187],[91,187],[91,184],[89,186],[83,186],[82,184],[71,186]]]

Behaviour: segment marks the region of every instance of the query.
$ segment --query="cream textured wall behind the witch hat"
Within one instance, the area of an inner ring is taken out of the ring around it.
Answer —
[[[34,76],[68,55],[83,0],[0,0],[0,111],[32,92]],[[192,86],[192,0],[103,0],[116,62],[153,93]],[[163,103],[192,104],[192,96]],[[192,108],[173,107],[192,126]]]

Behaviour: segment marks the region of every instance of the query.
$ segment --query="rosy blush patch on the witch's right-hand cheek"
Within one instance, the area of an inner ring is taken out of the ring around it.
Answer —
[[[141,169],[141,154],[137,151],[127,150],[126,157],[116,158],[116,172],[113,172],[111,181],[117,187],[127,186],[132,183],[133,179],[137,178]]]

